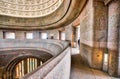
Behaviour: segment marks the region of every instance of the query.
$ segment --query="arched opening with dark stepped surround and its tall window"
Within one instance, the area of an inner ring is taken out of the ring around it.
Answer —
[[[19,57],[9,63],[4,69],[3,79],[20,79],[37,69],[43,61],[38,57]]]

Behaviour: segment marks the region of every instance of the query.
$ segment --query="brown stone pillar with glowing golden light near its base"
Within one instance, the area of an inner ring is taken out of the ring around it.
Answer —
[[[94,0],[93,13],[93,52],[92,64],[93,68],[103,68],[103,57],[107,49],[107,29],[108,29],[108,9],[104,2]]]

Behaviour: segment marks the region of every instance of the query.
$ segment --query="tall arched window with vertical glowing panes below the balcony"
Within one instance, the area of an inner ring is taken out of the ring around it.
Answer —
[[[33,70],[37,69],[38,66],[43,64],[37,58],[27,58],[20,61],[14,68],[14,79],[19,79],[23,77],[25,74],[32,72]]]

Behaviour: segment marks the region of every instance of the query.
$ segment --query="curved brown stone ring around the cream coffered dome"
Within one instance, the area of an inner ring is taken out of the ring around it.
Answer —
[[[73,22],[82,11],[87,0],[64,0],[61,6],[44,17],[10,17],[1,15],[0,28],[21,30],[55,29]]]

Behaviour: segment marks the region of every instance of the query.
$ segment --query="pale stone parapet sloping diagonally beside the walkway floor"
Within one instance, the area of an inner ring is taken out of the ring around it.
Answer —
[[[68,47],[57,57],[21,79],[70,79],[70,56]]]

